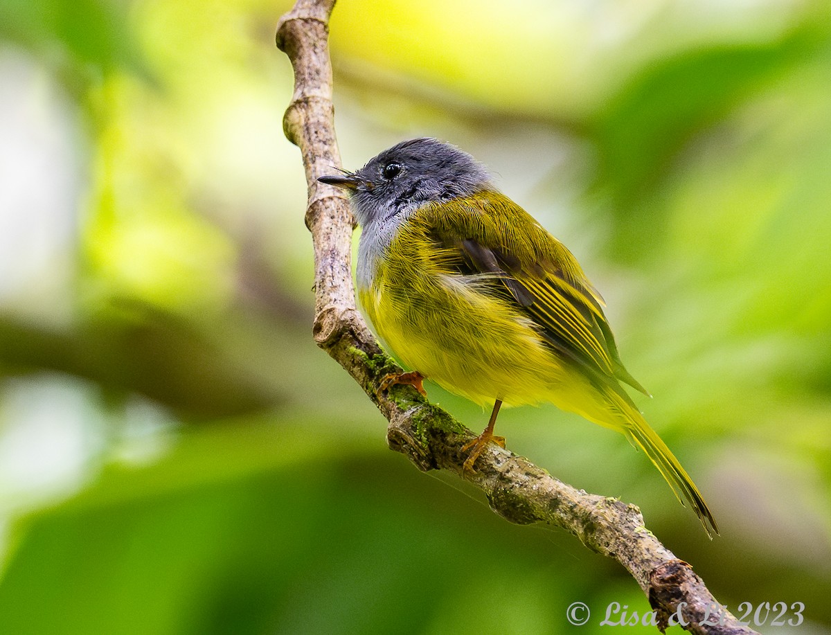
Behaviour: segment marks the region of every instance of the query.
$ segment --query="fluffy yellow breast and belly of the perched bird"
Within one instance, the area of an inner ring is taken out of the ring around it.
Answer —
[[[563,369],[533,322],[445,255],[417,224],[401,229],[358,288],[378,336],[406,367],[480,405],[550,401]]]

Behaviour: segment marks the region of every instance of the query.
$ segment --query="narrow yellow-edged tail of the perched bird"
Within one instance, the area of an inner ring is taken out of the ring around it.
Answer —
[[[677,499],[681,501],[681,505],[684,504],[684,500],[690,503],[692,510],[696,512],[696,516],[704,525],[707,535],[712,538],[713,533],[718,534],[719,528],[715,524],[710,508],[707,507],[701,492],[698,491],[696,484],[692,482],[690,475],[686,473],[686,470],[681,467],[681,463],[672,454],[672,450],[666,447],[666,443],[661,441],[661,437],[657,435],[656,431],[652,430],[641,413],[634,406],[627,403],[627,400],[622,399],[618,394],[609,395],[609,398],[613,401],[615,410],[620,411],[626,420],[626,424],[621,431],[627,436],[627,439],[632,445],[640,447],[646,452],[649,460],[658,468]]]

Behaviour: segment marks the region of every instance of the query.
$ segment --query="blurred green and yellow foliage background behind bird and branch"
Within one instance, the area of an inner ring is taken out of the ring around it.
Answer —
[[[583,601],[593,633],[610,602],[647,611],[571,536],[388,450],[313,344],[289,7],[0,5],[0,632],[562,633]],[[640,505],[730,608],[804,603],[761,632],[831,633],[829,3],[354,0],[331,27],[345,165],[416,135],[489,165],[605,296],[722,535],[553,406],[505,411],[509,448]]]

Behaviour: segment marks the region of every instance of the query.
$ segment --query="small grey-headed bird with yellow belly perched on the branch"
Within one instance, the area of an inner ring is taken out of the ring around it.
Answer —
[[[376,334],[412,370],[381,388],[429,379],[480,406],[488,425],[464,470],[494,436],[499,408],[550,402],[626,436],[645,452],[706,533],[718,534],[690,475],[622,384],[605,303],[577,258],[499,192],[473,156],[442,140],[401,141],[359,170],[323,175],[346,190],[361,226],[356,295]]]

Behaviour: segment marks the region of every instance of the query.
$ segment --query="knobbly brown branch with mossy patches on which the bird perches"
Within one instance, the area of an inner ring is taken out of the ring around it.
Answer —
[[[679,616],[691,633],[755,633],[720,607],[691,566],[644,527],[634,505],[576,490],[494,444],[477,461],[478,471],[465,474],[461,447],[475,437],[473,432],[411,386],[381,391],[381,380],[401,368],[381,350],[356,310],[350,263],[354,219],[348,201],[317,185],[318,176],[341,165],[328,53],[328,20],[334,3],[297,0],[277,30],[277,45],[294,67],[294,95],[283,128],[301,150],[309,188],[306,224],[315,254],[317,344],[354,377],[386,416],[392,450],[406,455],[420,470],[450,470],[470,480],[488,497],[491,508],[513,523],[561,527],[589,549],[616,559],[647,594],[661,630],[671,616]],[[707,615],[709,622],[701,624]]]

